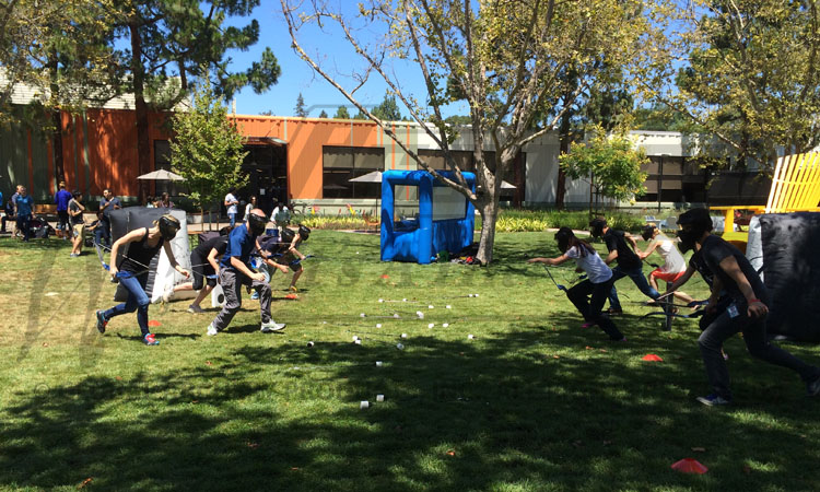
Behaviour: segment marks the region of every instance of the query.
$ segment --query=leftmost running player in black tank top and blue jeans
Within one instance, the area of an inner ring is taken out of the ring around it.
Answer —
[[[152,227],[136,229],[125,236],[117,239],[112,246],[112,279],[119,279],[119,283],[128,291],[128,300],[107,311],[97,311],[97,330],[105,333],[105,327],[108,321],[126,313],[137,312],[137,323],[140,326],[142,341],[147,345],[157,345],[154,333],[148,329],[148,305],[150,300],[145,294],[145,283],[148,282],[149,265],[160,248],[165,250],[171,267],[183,274],[186,279],[190,277],[174,258],[174,250],[171,248],[171,239],[179,232],[179,221],[171,214],[165,214],[154,221]],[[115,265],[115,259],[121,247],[128,246],[125,257],[119,266]]]

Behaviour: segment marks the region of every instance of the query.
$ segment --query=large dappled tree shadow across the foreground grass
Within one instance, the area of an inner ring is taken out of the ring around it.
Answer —
[[[93,478],[108,490],[221,491],[817,484],[817,450],[784,453],[796,436],[783,425],[691,402],[681,386],[702,378],[691,347],[667,349],[667,360],[680,361],[673,364],[633,364],[646,350],[640,342],[608,344],[600,333],[551,325],[476,340],[414,337],[402,340],[403,351],[389,339],[286,341],[235,349],[208,365],[38,387],[4,409],[0,483],[51,488]],[[385,402],[374,402],[376,394]],[[360,400],[372,408],[360,410]],[[785,406],[754,410],[776,414]],[[812,412],[792,409],[790,417]],[[669,469],[693,446],[708,449],[699,458],[713,473]],[[770,465],[749,473],[743,459]]]

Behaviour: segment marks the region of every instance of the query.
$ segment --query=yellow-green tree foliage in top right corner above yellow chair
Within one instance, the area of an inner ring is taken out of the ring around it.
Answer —
[[[713,156],[764,165],[778,148],[820,144],[820,15],[816,1],[691,0],[672,4],[647,39],[643,89],[716,136]],[[683,66],[677,60],[682,59]]]

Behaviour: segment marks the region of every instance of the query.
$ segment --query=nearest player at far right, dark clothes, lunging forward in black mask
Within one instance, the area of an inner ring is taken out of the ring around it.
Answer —
[[[724,341],[737,332],[743,333],[746,348],[753,358],[790,368],[804,380],[809,396],[820,395],[820,368],[769,342],[769,291],[746,256],[731,244],[712,234],[713,225],[708,210],[691,209],[680,215],[678,224],[681,227],[678,232],[681,248],[700,250],[704,263],[714,273],[712,295],[706,311],[715,309],[722,290],[731,298],[729,306],[698,339],[706,377],[712,386],[712,393],[699,397],[698,401],[707,406],[731,402],[729,371],[721,349]]]

